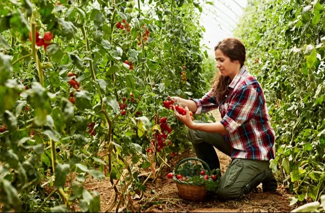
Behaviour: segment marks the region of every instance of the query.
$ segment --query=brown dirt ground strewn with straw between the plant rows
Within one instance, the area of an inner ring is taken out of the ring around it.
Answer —
[[[220,119],[218,112],[213,113],[216,120]],[[223,174],[230,162],[230,157],[217,151],[220,169]],[[240,200],[222,201],[213,196],[208,196],[203,202],[190,202],[182,200],[178,194],[176,183],[168,179],[167,173],[173,171],[176,164],[184,158],[196,157],[192,150],[187,150],[178,154],[168,163],[171,168],[165,167],[161,178],[154,184],[149,180],[146,184],[146,192],[141,200],[135,200],[133,205],[142,212],[289,212],[296,206],[289,206],[289,194],[287,190],[278,184],[275,193],[252,192]],[[148,170],[149,171],[149,170]],[[143,176],[142,182],[145,180]],[[87,179],[85,188],[89,191],[98,191],[101,195],[101,211],[106,211],[112,202],[110,199],[114,195],[114,190],[109,179],[99,181]],[[262,188],[261,185],[258,188]],[[261,190],[259,190],[261,191]],[[78,209],[76,209],[78,210]],[[122,209],[120,209],[122,210]],[[115,209],[113,209],[115,211]]]

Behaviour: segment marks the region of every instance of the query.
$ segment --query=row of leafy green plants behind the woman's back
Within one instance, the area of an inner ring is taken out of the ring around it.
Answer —
[[[323,0],[252,0],[236,30],[263,85],[276,131],[270,167],[296,194],[291,205],[319,207],[325,193],[324,11]]]

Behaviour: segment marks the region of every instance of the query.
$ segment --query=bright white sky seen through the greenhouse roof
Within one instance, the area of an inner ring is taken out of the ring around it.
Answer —
[[[211,2],[213,6],[202,1],[200,4],[203,9],[200,23],[206,30],[201,45],[205,44],[210,48],[207,50],[208,54],[214,58],[213,48],[217,42],[234,37],[233,29],[243,14],[243,8],[247,6],[247,0],[211,0]]]

